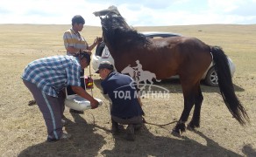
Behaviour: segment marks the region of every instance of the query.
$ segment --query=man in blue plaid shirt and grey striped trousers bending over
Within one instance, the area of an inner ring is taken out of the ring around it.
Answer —
[[[76,57],[67,55],[39,58],[25,67],[22,79],[43,114],[48,133],[47,141],[70,138],[68,133],[63,133],[61,124],[65,100],[63,89],[66,86],[71,85],[75,93],[88,99],[92,108],[98,106],[96,99],[81,86],[80,72],[89,62],[89,54],[81,52]]]

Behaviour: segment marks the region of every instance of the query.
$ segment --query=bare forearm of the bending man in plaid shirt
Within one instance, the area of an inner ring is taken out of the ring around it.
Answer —
[[[84,91],[84,89],[81,86],[71,85],[71,88],[77,95],[81,96],[84,99],[88,99],[92,109],[98,107],[99,102],[96,99],[94,99],[92,96],[90,96],[88,92]]]

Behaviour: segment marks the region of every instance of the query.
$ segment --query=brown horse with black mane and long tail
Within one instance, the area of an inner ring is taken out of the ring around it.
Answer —
[[[155,73],[158,79],[180,76],[184,109],[173,133],[185,131],[185,122],[194,105],[193,118],[188,126],[193,129],[200,126],[203,102],[200,80],[212,59],[225,105],[241,125],[249,122],[245,108],[234,92],[228,60],[220,47],[204,44],[197,38],[146,38],[126,24],[124,17],[113,13],[101,17],[101,23],[103,40],[115,60],[117,72],[128,65],[134,66],[139,60],[143,70]]]

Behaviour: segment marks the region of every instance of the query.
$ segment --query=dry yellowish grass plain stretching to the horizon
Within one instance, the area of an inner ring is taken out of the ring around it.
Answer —
[[[0,154],[2,156],[256,156],[256,25],[189,25],[139,27],[139,31],[171,31],[220,45],[236,65],[233,83],[238,98],[251,118],[240,126],[224,106],[218,88],[202,85],[201,127],[173,136],[168,126],[146,125],[136,140],[110,133],[110,109],[100,79],[94,74],[93,95],[103,106],[82,115],[65,111],[64,129],[72,140],[46,143],[46,126],[37,106],[27,106],[32,95],[20,78],[25,65],[34,59],[65,54],[62,35],[70,25],[0,25]],[[82,35],[91,44],[101,28],[85,26]],[[87,69],[86,73],[89,73]],[[160,85],[170,99],[142,99],[146,120],[165,124],[179,119],[183,109],[181,86],[176,81]],[[90,93],[90,91],[88,91]]]

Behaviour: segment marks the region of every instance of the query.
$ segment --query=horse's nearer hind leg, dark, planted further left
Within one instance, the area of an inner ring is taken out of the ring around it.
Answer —
[[[182,85],[182,84],[181,84]],[[181,114],[181,118],[174,127],[173,133],[182,133],[186,131],[186,121],[188,120],[189,113],[195,103],[195,94],[192,86],[182,85],[183,97],[184,97],[184,109]]]

